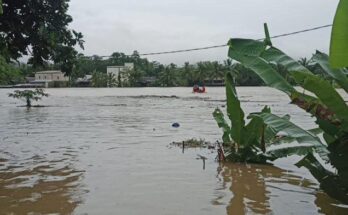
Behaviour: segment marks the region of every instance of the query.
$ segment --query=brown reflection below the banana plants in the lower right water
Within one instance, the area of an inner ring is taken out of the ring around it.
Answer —
[[[227,214],[305,214],[306,210],[314,213],[315,210],[306,209],[312,198],[319,213],[347,213],[347,208],[318,192],[313,181],[274,166],[221,164],[217,171],[224,186],[229,186],[233,193],[226,207]],[[287,207],[287,204],[297,208]]]

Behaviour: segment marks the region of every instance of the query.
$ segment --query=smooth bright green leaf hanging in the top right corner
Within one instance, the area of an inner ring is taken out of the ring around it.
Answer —
[[[348,66],[348,1],[340,0],[331,33],[330,64],[333,68]]]

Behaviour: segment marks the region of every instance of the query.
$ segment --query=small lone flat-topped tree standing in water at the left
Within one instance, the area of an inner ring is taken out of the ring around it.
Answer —
[[[43,89],[37,88],[35,90],[15,90],[14,93],[9,93],[8,96],[25,100],[26,107],[30,108],[32,106],[32,100],[41,100],[42,97],[48,97],[48,94],[45,93]]]

